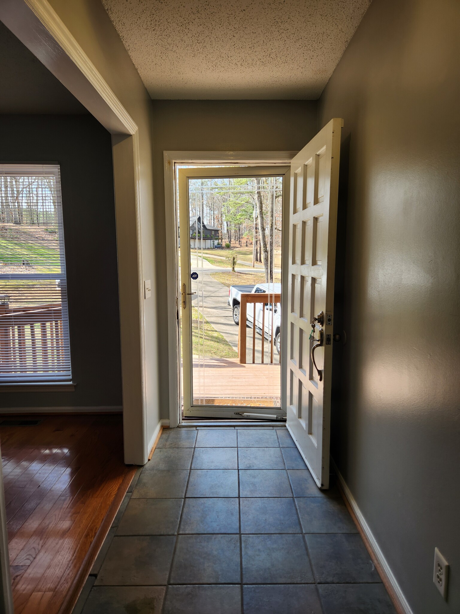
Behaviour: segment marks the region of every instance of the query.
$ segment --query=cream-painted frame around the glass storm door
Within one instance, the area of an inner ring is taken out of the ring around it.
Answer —
[[[209,165],[221,164],[251,166],[286,166],[290,165],[292,158],[297,155],[294,151],[252,151],[252,152],[223,152],[223,151],[164,151],[164,213],[166,219],[166,273],[167,284],[166,311],[168,335],[168,373],[169,373],[169,426],[177,427],[181,423],[180,407],[180,330],[178,326],[178,259],[177,259],[177,165]],[[283,217],[285,207],[289,207],[289,182],[285,182],[283,195]],[[287,198],[286,198],[287,196]],[[287,203],[287,204],[286,204]],[[289,234],[285,232],[283,224],[282,249],[285,251]],[[282,264],[282,279],[287,274],[288,262]],[[285,310],[286,312],[286,310]],[[284,316],[283,316],[284,324]],[[285,327],[283,327],[285,328]],[[286,355],[282,357],[282,407],[286,406],[285,369],[283,368]],[[286,362],[287,364],[287,362]]]

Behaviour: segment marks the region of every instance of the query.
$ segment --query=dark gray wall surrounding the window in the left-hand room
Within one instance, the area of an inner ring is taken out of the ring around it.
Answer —
[[[91,115],[0,115],[0,161],[61,167],[75,392],[1,393],[0,407],[121,408],[112,141]]]

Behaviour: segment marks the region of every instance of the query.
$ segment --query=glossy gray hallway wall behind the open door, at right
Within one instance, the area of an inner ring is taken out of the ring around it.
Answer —
[[[460,611],[459,25],[454,0],[374,0],[318,107],[345,120],[332,456],[414,614]]]

